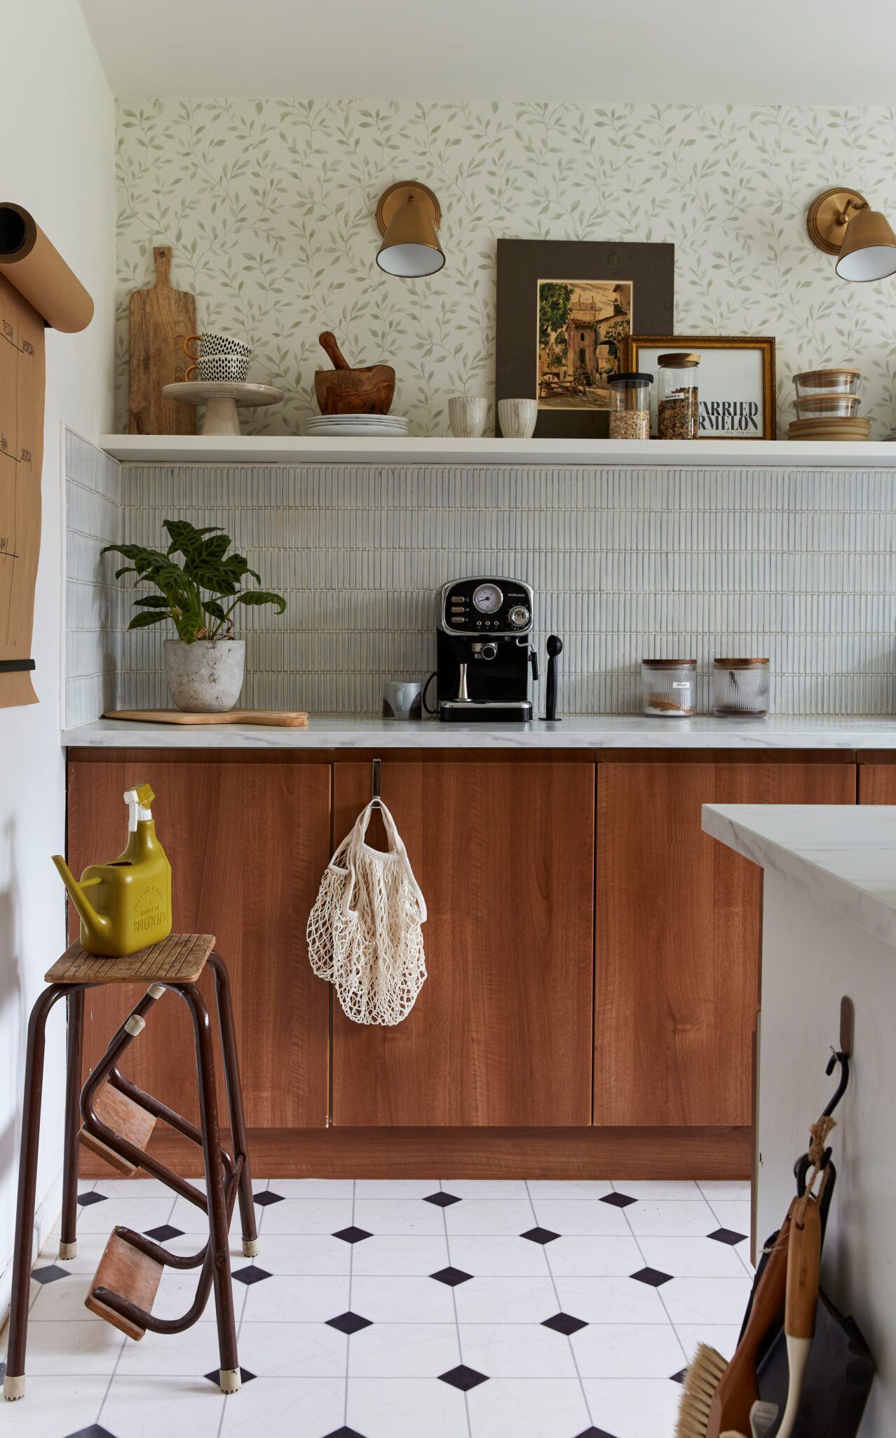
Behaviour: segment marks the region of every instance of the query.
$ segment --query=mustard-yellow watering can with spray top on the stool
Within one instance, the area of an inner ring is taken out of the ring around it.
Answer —
[[[124,958],[171,933],[171,864],[155,837],[150,810],[154,798],[148,784],[137,784],[125,792],[127,847],[108,864],[88,864],[81,883],[62,854],[53,854],[81,915],[81,943],[88,953]]]

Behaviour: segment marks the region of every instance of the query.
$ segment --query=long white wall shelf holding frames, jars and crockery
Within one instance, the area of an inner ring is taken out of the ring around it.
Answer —
[[[759,469],[896,469],[896,443],[790,440],[454,440],[104,434],[132,464],[752,464]]]

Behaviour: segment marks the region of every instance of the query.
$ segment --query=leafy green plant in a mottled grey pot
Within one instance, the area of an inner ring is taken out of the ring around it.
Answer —
[[[270,590],[243,590],[250,575],[242,554],[227,554],[230,536],[219,525],[197,529],[186,519],[165,519],[171,544],[147,549],[140,544],[108,544],[102,554],[121,554],[131,564],[115,571],[135,574],[135,584],[154,584],[158,594],[134,600],[138,613],[129,630],[173,620],[177,638],[164,644],[165,679],[178,709],[190,713],[223,713],[233,709],[243,687],[246,644],[233,637],[237,604],[273,604],[278,614],[286,600]],[[180,557],[180,562],[178,558]]]

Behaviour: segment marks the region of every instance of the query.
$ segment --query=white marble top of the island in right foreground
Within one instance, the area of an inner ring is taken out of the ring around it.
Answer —
[[[896,805],[705,804],[703,830],[896,948]]]

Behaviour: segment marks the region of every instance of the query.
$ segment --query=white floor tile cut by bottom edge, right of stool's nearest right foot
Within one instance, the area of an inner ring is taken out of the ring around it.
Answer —
[[[255,1378],[226,1399],[221,1438],[324,1438],[344,1414],[344,1378]]]

